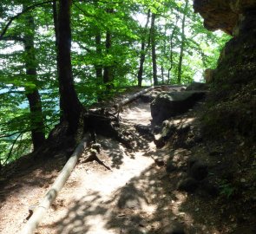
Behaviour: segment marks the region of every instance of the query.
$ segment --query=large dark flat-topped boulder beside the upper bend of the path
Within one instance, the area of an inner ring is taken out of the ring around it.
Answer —
[[[164,92],[158,94],[150,105],[153,125],[159,125],[163,120],[187,112],[205,95],[205,91]]]

